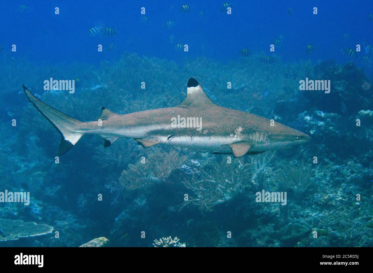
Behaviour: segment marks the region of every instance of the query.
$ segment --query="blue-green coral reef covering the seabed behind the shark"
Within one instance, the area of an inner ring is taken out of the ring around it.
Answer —
[[[56,67],[1,58],[6,94],[0,100],[0,191],[29,191],[31,201],[29,206],[1,204],[0,219],[8,219],[1,220],[8,228],[14,226],[9,221],[45,223],[37,226],[53,226],[59,237],[0,239],[0,246],[76,247],[110,233],[112,247],[178,240],[153,241],[160,234],[178,234],[196,247],[372,247],[372,84],[353,63],[283,63],[273,57],[270,68],[255,54],[224,64],[206,57],[176,64],[125,53],[99,66]],[[82,81],[73,95],[43,91],[43,80],[52,74],[79,74]],[[228,163],[227,155],[162,145],[144,149],[133,139],[104,148],[101,138],[87,135],[56,164],[60,135],[23,94],[14,98],[24,83],[51,106],[92,120],[102,106],[130,113],[178,105],[191,76],[215,103],[273,118],[312,140]],[[299,81],[306,77],[330,79],[332,91],[300,91]],[[263,189],[288,192],[287,204],[257,203],[255,193]],[[0,230],[0,238],[15,234]],[[142,230],[146,238],[140,237]]]

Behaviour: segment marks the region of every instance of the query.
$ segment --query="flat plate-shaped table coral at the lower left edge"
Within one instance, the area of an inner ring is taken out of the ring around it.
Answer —
[[[0,219],[0,242],[14,241],[20,238],[39,236],[51,233],[53,227],[23,222],[22,220]]]

